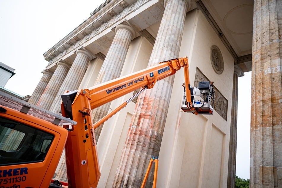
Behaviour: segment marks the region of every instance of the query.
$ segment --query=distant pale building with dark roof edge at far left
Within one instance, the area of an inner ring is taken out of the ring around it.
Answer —
[[[20,98],[23,101],[28,101],[30,95],[22,96],[5,88],[5,85],[7,84],[8,80],[16,74],[14,71],[15,68],[9,67],[8,65],[5,65],[4,63],[0,62],[0,91]]]

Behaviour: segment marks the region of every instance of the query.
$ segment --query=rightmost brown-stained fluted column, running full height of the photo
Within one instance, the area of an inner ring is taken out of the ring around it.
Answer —
[[[282,186],[282,3],[254,0],[250,187]]]

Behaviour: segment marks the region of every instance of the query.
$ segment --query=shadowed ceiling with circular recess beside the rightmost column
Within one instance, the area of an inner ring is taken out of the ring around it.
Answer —
[[[251,71],[253,0],[202,0],[202,11],[230,45],[238,66]],[[199,6],[198,6],[199,7]]]

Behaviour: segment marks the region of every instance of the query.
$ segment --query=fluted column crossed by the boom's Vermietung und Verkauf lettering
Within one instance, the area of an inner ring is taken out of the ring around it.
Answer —
[[[106,55],[95,85],[120,77],[130,42],[135,36],[135,31],[128,25],[120,24],[115,28],[115,32],[114,40]],[[111,103],[109,102],[92,111],[94,123],[108,114],[110,105]],[[96,142],[98,142],[102,127],[103,125],[95,129]]]

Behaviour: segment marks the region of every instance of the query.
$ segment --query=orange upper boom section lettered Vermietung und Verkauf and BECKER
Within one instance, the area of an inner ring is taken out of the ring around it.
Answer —
[[[151,89],[158,80],[175,74],[177,70],[184,66],[188,66],[187,57],[161,62],[156,66],[91,87],[88,89],[91,96],[91,109],[138,88],[148,87],[148,89]]]

